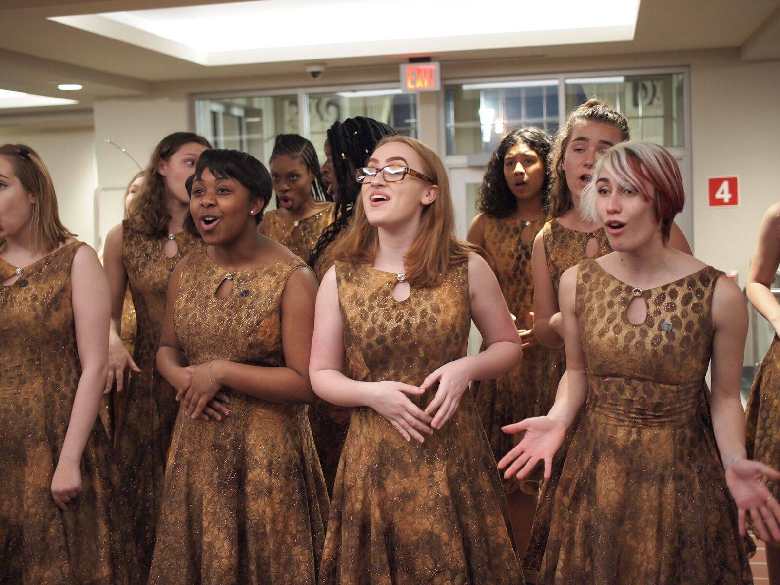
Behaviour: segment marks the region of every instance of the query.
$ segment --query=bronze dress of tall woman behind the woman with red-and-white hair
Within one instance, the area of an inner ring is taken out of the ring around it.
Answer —
[[[555,289],[555,298],[558,298],[558,284],[561,282],[561,275],[576,266],[585,257],[585,249],[590,239],[597,242],[597,250],[594,258],[604,256],[612,252],[612,246],[609,245],[607,233],[603,228],[594,232],[580,232],[576,229],[569,229],[558,222],[558,219],[551,219],[544,224],[542,229],[544,256],[547,257],[547,267],[550,271],[552,286]],[[558,392],[558,382],[566,371],[566,353],[564,349],[558,348],[552,350],[550,358],[550,367],[548,370],[548,385],[552,395],[548,403],[555,402],[555,393]],[[552,474],[548,481],[542,484],[539,494],[539,504],[537,505],[536,516],[534,516],[534,528],[531,534],[530,544],[525,558],[523,558],[523,569],[527,576],[533,578],[539,572],[541,567],[541,558],[544,555],[544,547],[547,545],[547,535],[550,530],[550,519],[552,517],[552,506],[555,498],[555,486],[558,484],[558,477],[563,470],[563,462],[566,460],[566,450],[569,449],[569,442],[572,440],[576,423],[569,427],[566,439],[563,441],[558,454],[552,461]],[[537,470],[538,473],[539,470]]]

